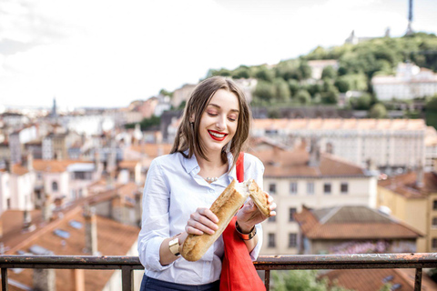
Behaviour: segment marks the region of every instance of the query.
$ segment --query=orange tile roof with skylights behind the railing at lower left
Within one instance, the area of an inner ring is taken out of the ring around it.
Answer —
[[[76,229],[69,225],[70,220],[76,220],[83,224],[82,228]],[[55,229],[66,230],[69,238],[61,238],[56,236],[53,231]],[[102,256],[126,256],[127,252],[137,240],[139,228],[136,226],[127,226],[120,224],[112,219],[97,216],[97,250]],[[62,241],[65,241],[65,246]],[[83,249],[85,248],[85,218],[82,216],[81,207],[76,207],[66,216],[55,224],[51,223],[46,226],[43,231],[40,231],[37,236],[27,239],[25,242],[15,247],[10,255],[15,254],[15,251],[20,249],[28,251],[30,246],[43,246],[54,252],[55,255],[76,255],[84,256]],[[104,270],[85,270],[85,285],[86,290],[102,290],[107,284],[109,278],[114,271]],[[33,271],[25,269],[20,274],[9,272],[9,278],[18,281],[26,286],[32,286]],[[56,269],[56,289],[70,290],[72,288],[72,271]],[[10,286],[11,290],[13,286]]]

